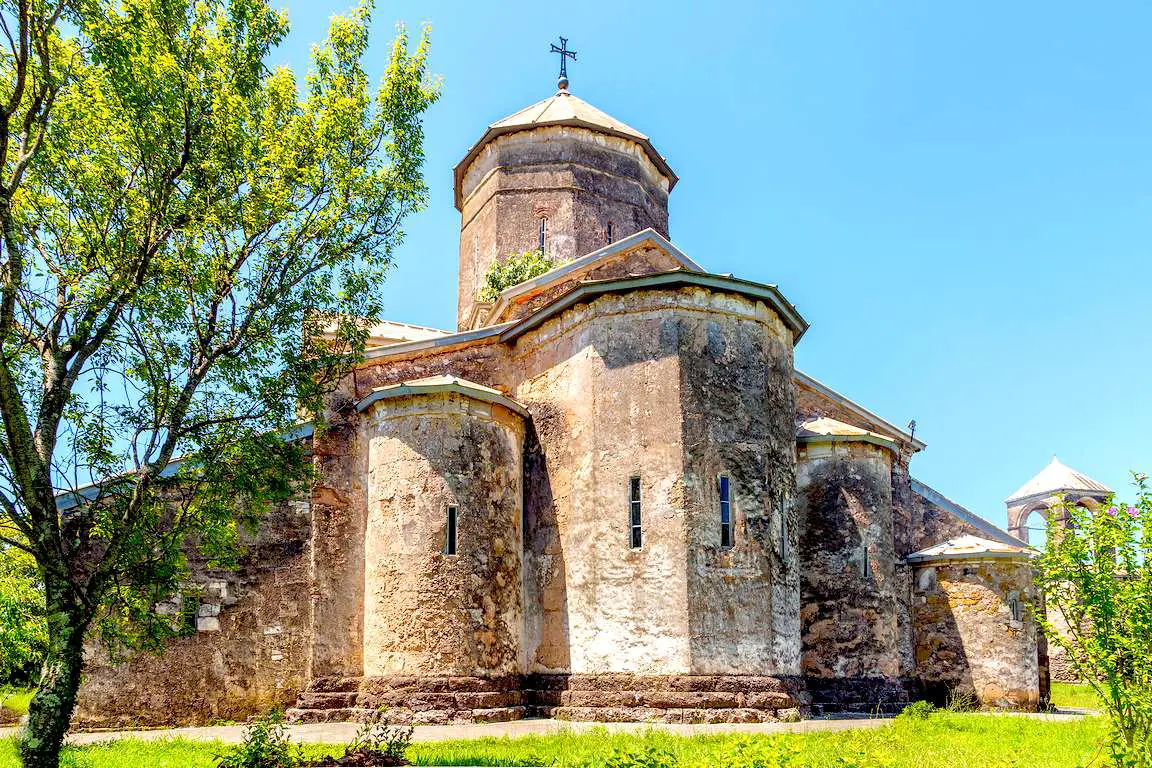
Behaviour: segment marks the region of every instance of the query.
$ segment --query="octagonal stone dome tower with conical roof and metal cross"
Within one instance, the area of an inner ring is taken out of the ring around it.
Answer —
[[[483,325],[477,294],[498,259],[540,249],[560,265],[642,229],[668,236],[676,174],[647,136],[569,93],[563,71],[554,96],[488,126],[454,176],[461,330]]]

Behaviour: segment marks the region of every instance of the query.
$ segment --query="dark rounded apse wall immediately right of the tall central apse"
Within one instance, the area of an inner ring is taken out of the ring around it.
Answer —
[[[825,687],[829,704],[867,700],[870,689],[888,689],[901,675],[896,609],[905,583],[894,553],[892,451],[801,443],[796,487],[804,675],[817,701]]]

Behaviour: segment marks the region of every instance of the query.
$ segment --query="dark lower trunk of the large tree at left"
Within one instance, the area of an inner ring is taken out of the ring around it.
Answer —
[[[60,766],[60,748],[76,707],[84,667],[86,624],[78,610],[56,607],[48,611],[48,655],[20,745],[24,768]]]

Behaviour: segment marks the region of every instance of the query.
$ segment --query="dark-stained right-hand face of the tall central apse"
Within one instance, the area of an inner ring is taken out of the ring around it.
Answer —
[[[680,358],[691,669],[797,675],[791,333],[761,303],[689,296],[664,334]],[[730,481],[730,548],[720,539],[721,474]]]

